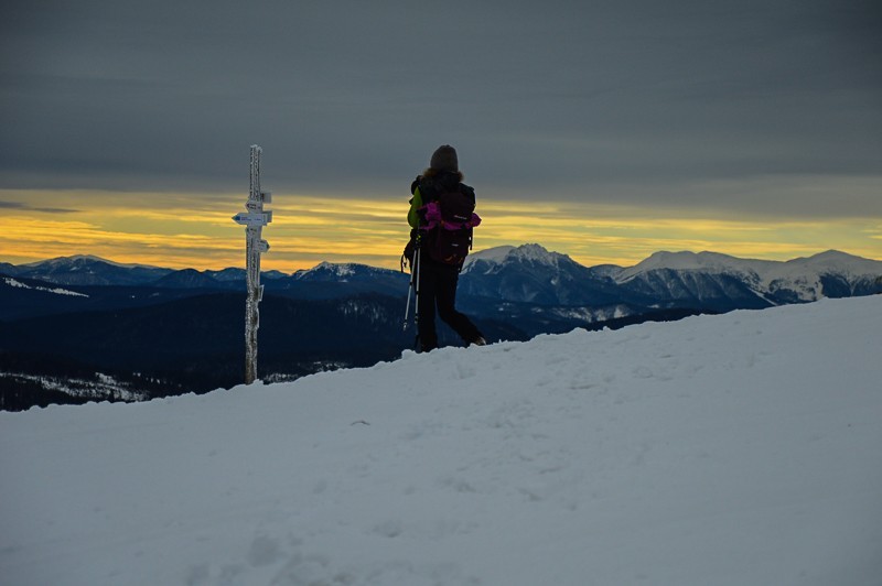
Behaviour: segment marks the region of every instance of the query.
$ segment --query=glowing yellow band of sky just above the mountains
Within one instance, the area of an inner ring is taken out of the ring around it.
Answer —
[[[0,261],[23,263],[95,254],[123,263],[223,269],[245,263],[245,235],[232,221],[240,194],[11,192],[0,217]],[[41,202],[41,210],[30,205]],[[186,211],[180,211],[185,209]],[[266,228],[267,270],[293,272],[321,261],[398,268],[409,235],[400,198],[275,194]],[[882,259],[882,218],[827,220],[690,217],[670,209],[536,205],[483,199],[475,250],[536,242],[587,265],[633,265],[658,250],[711,250],[788,260],[830,248]],[[695,213],[692,213],[695,214]]]

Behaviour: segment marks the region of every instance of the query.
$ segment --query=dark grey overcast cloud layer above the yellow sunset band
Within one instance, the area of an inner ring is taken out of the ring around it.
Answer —
[[[406,197],[451,143],[495,202],[882,218],[878,0],[0,11],[0,189],[244,193],[259,143],[275,193]]]

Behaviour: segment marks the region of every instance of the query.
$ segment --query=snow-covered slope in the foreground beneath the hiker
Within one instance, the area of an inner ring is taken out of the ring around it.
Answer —
[[[882,582],[882,296],[0,413],[10,585]]]

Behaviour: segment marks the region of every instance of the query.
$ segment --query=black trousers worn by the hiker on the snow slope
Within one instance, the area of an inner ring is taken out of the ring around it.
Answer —
[[[482,337],[469,317],[456,311],[456,283],[460,271],[456,267],[432,261],[428,254],[420,259],[420,299],[418,334],[420,350],[429,351],[438,347],[438,333],[434,327],[435,307],[438,315],[466,344]]]

